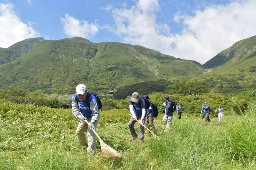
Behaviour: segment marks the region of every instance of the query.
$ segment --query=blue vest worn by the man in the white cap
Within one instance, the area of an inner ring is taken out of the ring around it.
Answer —
[[[91,114],[93,113],[90,109],[90,102],[92,99],[96,100],[96,97],[92,94],[90,95],[89,93],[87,93],[85,101],[80,101],[80,99],[77,97],[76,93],[73,95],[73,97],[76,99],[76,101],[78,103],[79,110],[82,113],[82,115],[84,117],[86,117],[87,119],[90,119],[92,117]],[[72,101],[74,100],[73,97],[72,97]]]

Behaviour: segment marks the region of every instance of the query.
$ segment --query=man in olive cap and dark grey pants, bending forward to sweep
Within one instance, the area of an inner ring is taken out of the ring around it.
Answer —
[[[139,96],[139,93],[137,92],[132,93],[132,97],[130,97],[129,99],[129,108],[130,108],[132,117],[128,122],[128,126],[130,128],[130,132],[132,135],[131,141],[133,141],[138,138],[137,133],[135,132],[135,129],[134,129],[134,124],[136,120],[140,119],[139,121],[140,124],[143,124],[143,125],[145,124],[146,104],[144,99],[142,99]],[[139,143],[143,143],[144,133],[145,133],[145,128],[142,125],[140,125]]]

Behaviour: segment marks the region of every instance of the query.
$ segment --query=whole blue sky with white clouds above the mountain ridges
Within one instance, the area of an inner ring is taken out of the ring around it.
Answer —
[[[138,44],[204,63],[256,35],[256,20],[244,16],[254,15],[255,0],[0,0],[0,5],[4,48],[31,37],[80,36]]]

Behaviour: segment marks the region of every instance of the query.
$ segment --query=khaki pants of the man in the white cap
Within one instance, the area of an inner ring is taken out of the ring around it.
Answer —
[[[88,122],[91,122],[91,119],[87,119]],[[95,121],[95,131],[98,125],[98,121]],[[82,146],[87,146],[87,141],[85,137],[85,132],[87,132],[88,138],[88,147],[87,153],[95,154],[96,152],[96,135],[93,131],[88,127],[86,122],[80,121],[76,128],[76,135],[78,137],[78,141]]]

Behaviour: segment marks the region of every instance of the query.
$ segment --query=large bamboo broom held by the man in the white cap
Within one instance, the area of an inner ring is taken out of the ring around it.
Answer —
[[[82,115],[82,113],[80,112],[80,114]],[[84,117],[82,115],[82,117]],[[85,122],[88,124],[89,126],[89,122],[87,120],[85,120]],[[122,155],[119,154],[119,152],[117,152],[116,150],[114,150],[113,148],[111,148],[108,144],[104,143],[102,141],[102,139],[100,138],[100,136],[96,133],[96,131],[92,128],[93,133],[95,133],[96,137],[98,137],[99,141],[100,141],[100,148],[101,148],[101,154],[102,157],[116,157],[116,158],[122,158]]]

